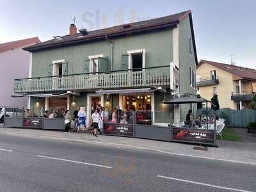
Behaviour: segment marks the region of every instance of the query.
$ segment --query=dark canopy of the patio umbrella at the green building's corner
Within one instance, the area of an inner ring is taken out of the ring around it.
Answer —
[[[180,97],[163,101],[164,104],[187,104],[187,103],[200,103],[200,102],[209,102],[209,100],[202,99],[190,95],[182,95]]]

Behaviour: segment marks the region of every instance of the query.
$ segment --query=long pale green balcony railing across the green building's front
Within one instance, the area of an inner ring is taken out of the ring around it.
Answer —
[[[170,85],[170,66],[15,79],[15,93]]]

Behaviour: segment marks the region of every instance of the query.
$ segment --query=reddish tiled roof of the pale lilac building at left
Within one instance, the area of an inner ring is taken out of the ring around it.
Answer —
[[[19,48],[19,47],[24,47],[26,45],[31,45],[31,44],[38,44],[41,41],[39,40],[39,38],[33,37],[33,38],[26,38],[23,40],[17,40],[14,42],[7,42],[4,44],[0,44],[0,52],[4,52],[4,51],[9,51],[11,49],[15,49],[15,48]]]

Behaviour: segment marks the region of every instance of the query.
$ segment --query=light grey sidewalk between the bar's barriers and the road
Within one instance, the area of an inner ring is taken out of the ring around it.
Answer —
[[[256,165],[256,143],[250,142],[217,140],[219,148],[209,147],[208,151],[204,151],[193,150],[195,145],[192,144],[104,135],[99,135],[98,138],[95,138],[92,134],[82,132],[70,132],[65,134],[60,131],[2,128],[0,129],[0,134],[77,141],[92,143],[93,145],[129,147],[138,150],[151,150],[152,152],[163,152],[184,157],[201,157],[204,159],[218,159],[220,161],[226,160],[234,163],[251,163]]]

